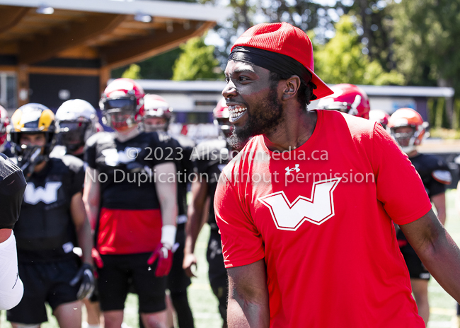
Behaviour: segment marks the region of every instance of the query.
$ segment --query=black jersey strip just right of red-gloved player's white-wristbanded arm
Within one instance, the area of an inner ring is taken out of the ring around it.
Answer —
[[[176,168],[178,170],[178,224],[185,223],[187,218],[187,188],[190,182],[190,175],[194,172],[192,162],[193,148],[195,142],[182,134],[173,135],[172,139],[177,143]],[[182,218],[181,218],[182,217]]]

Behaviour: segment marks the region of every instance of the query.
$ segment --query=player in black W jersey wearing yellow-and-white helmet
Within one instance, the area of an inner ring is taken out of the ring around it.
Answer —
[[[81,303],[94,286],[91,230],[82,201],[83,162],[74,156],[50,158],[54,114],[30,103],[11,117],[9,137],[25,187],[21,215],[13,231],[18,244],[21,302],[8,310],[13,327],[47,321],[45,302],[59,326],[81,326]],[[73,250],[81,247],[80,259]]]

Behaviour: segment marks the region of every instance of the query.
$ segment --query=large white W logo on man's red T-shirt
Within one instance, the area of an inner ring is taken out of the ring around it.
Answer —
[[[320,225],[334,216],[333,191],[341,177],[314,182],[311,198],[303,196],[290,203],[284,192],[258,198],[270,209],[277,229],[295,231],[304,221]]]

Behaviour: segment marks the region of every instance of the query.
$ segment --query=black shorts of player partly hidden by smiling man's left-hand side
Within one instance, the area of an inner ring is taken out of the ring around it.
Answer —
[[[219,230],[211,229],[209,242],[207,244],[206,259],[209,263],[209,283],[211,287],[227,288],[227,273],[222,255],[222,242]]]

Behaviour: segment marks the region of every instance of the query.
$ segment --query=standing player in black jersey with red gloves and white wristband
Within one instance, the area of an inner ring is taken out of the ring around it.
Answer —
[[[97,221],[93,257],[105,327],[120,328],[132,283],[144,327],[166,328],[178,154],[166,134],[140,131],[144,90],[130,78],[105,88],[100,109],[103,123],[115,132],[99,132],[86,142],[84,200]]]

